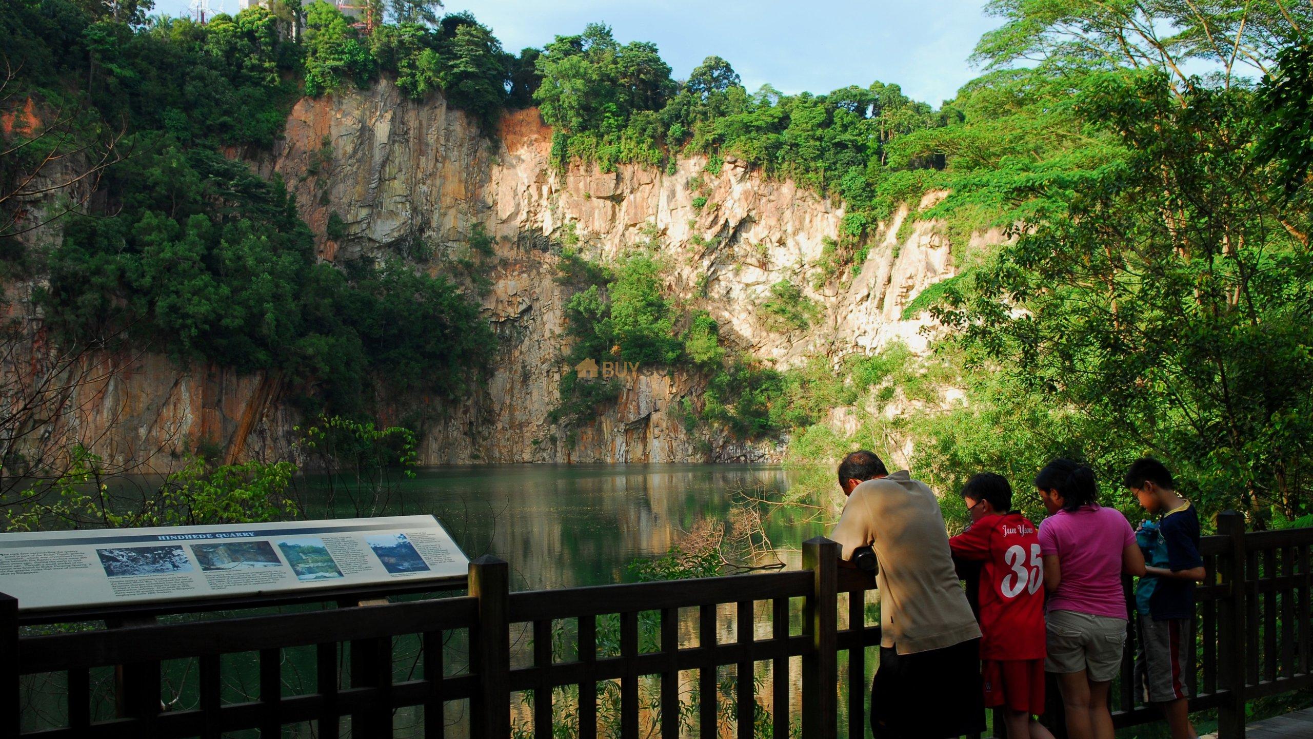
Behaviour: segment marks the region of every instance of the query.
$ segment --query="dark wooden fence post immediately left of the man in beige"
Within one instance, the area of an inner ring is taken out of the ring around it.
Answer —
[[[825,536],[802,544],[802,568],[811,571],[811,597],[802,615],[802,632],[811,652],[802,656],[802,735],[836,736],[839,731],[839,555],[842,547]]]

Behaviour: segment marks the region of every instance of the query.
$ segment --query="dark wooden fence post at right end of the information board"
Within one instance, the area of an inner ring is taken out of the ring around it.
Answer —
[[[471,701],[471,736],[511,735],[509,589],[507,563],[490,555],[470,563],[470,594],[479,600],[478,622],[470,634],[470,657],[479,679]]]

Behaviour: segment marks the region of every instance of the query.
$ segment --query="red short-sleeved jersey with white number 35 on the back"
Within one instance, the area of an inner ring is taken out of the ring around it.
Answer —
[[[948,544],[955,556],[985,563],[981,659],[1043,659],[1044,565],[1035,523],[1020,513],[990,515],[949,538]]]

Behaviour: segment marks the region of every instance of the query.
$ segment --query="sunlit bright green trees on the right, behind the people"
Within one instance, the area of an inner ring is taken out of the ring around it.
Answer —
[[[936,296],[976,401],[919,456],[960,480],[1064,454],[1111,481],[1150,454],[1205,510],[1306,513],[1309,9],[990,8],[973,84],[1008,93],[970,97],[1007,107],[907,143],[961,175],[940,213],[994,208],[1015,241]]]

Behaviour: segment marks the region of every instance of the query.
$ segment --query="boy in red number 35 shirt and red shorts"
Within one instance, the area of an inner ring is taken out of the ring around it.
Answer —
[[[1012,487],[1002,475],[972,476],[962,500],[972,525],[948,544],[953,556],[983,563],[985,705],[1004,707],[1008,739],[1053,739],[1032,718],[1044,713],[1044,568],[1037,526],[1011,510]]]

